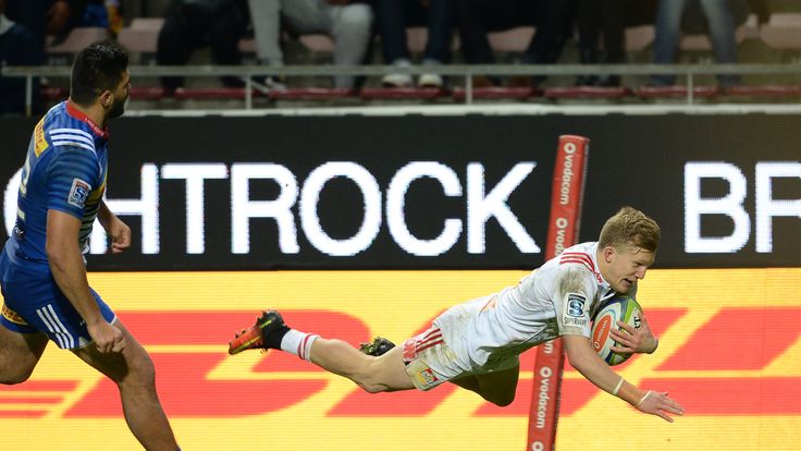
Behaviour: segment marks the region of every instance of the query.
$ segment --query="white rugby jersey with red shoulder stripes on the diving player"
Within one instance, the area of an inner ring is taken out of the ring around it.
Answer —
[[[596,242],[568,247],[517,285],[448,308],[434,326],[470,368],[491,368],[559,336],[589,338],[592,316],[615,294],[596,251]]]

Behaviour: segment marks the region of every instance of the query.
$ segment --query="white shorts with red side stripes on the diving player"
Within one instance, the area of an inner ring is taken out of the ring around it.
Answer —
[[[484,367],[470,367],[468,359],[466,356],[459,358],[435,326],[404,342],[406,374],[422,391],[459,377],[510,369],[520,364],[517,355]]]

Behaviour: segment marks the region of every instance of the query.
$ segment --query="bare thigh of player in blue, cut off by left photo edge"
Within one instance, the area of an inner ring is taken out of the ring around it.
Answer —
[[[17,333],[0,326],[0,383],[28,380],[47,343],[42,332]]]

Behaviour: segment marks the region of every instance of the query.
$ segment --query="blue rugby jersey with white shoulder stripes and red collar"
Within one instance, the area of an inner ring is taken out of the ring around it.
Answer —
[[[27,261],[34,267],[47,264],[49,209],[82,220],[77,240],[81,249],[88,252],[89,235],[106,191],[108,144],[108,131],[69,100],[50,109],[36,124],[22,171],[16,226],[7,245],[13,261]]]

